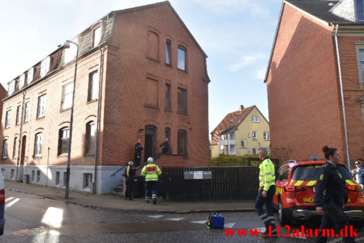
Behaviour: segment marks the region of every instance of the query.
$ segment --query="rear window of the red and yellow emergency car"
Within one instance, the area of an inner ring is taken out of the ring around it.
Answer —
[[[296,170],[293,172],[292,179],[293,180],[317,180],[320,176],[320,168],[321,165],[313,165],[313,166],[298,166]],[[345,180],[352,179],[348,170],[346,170],[344,165],[337,166],[340,174],[344,177]]]

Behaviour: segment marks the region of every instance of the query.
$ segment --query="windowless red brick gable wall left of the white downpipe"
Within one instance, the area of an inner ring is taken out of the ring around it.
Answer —
[[[266,84],[271,146],[294,150],[288,159],[328,145],[346,160],[332,28],[284,6]]]

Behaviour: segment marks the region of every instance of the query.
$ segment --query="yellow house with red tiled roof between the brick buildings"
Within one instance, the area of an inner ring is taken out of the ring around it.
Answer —
[[[258,148],[269,149],[269,123],[257,106],[231,112],[211,132],[211,157],[219,154],[257,154]]]

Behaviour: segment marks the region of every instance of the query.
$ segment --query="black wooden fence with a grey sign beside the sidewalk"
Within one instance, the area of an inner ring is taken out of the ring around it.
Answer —
[[[276,171],[279,166],[276,166]],[[212,179],[185,179],[185,171],[210,171]],[[259,167],[163,167],[165,200],[252,200],[259,188]]]

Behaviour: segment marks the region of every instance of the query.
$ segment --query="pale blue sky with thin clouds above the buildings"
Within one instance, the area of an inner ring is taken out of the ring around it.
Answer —
[[[263,83],[282,0],[169,0],[207,54],[209,132],[229,112],[257,105],[268,119]],[[7,0],[0,82],[7,83],[101,16],[158,0]]]

